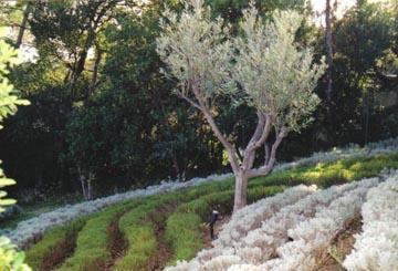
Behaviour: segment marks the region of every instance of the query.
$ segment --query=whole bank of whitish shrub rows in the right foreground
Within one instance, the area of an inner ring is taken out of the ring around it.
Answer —
[[[398,171],[306,197],[290,188],[238,211],[213,248],[167,270],[398,270],[397,213]],[[355,243],[336,246],[343,236]]]

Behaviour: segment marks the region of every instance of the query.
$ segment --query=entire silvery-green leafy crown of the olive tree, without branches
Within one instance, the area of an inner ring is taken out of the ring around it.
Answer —
[[[274,116],[275,127],[300,131],[320,102],[313,90],[326,65],[324,60],[314,64],[312,49],[295,42],[303,21],[296,11],[277,11],[272,22],[263,21],[252,3],[242,34],[231,37],[230,27],[220,17],[212,20],[202,0],[190,0],[180,17],[164,12],[157,52],[167,64],[165,74],[177,80],[177,92],[197,105],[196,100],[240,88],[249,105]],[[233,87],[237,83],[240,87]],[[199,96],[192,97],[193,85]]]

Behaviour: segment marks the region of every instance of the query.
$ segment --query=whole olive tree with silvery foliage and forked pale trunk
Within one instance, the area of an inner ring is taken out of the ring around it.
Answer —
[[[268,175],[283,138],[308,124],[318,104],[313,90],[325,64],[314,64],[312,49],[295,42],[303,18],[294,11],[276,12],[266,22],[251,4],[238,37],[210,13],[202,0],[189,1],[180,14],[166,9],[157,52],[167,66],[165,74],[178,82],[176,93],[203,114],[228,153],[235,176],[235,211],[247,204],[249,178]],[[220,95],[243,96],[256,112],[255,131],[243,150],[237,150],[217,125]],[[271,133],[275,140],[268,147]],[[255,168],[260,147],[265,157]]]

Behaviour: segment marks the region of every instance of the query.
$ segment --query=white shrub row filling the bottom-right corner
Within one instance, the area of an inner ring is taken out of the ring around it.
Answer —
[[[363,231],[344,267],[349,270],[398,270],[398,173],[369,190],[362,209]]]

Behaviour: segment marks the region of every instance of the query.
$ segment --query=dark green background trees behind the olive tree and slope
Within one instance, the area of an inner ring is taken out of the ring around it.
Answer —
[[[166,2],[177,12],[182,8],[179,1]],[[206,2],[214,17],[223,17],[239,31],[248,1]],[[305,1],[255,3],[265,20],[275,9],[304,13],[308,20],[297,42],[315,45],[316,62],[326,54],[325,31],[311,22]],[[7,119],[0,132],[2,167],[18,179],[18,188],[10,191],[20,200],[80,192],[82,180],[90,180],[94,196],[100,196],[166,178],[230,170],[203,117],[172,93],[176,82],[159,72],[164,63],[155,49],[164,4],[1,3],[1,24],[14,30],[3,40],[38,52],[35,61],[12,67],[8,75],[31,105]],[[332,101],[326,106],[324,77],[316,88],[322,101],[314,122],[301,134],[289,135],[279,160],[398,135],[397,18],[392,1],[358,1],[343,18],[332,17]],[[226,97],[219,104],[218,125],[240,149],[250,139],[247,131],[255,127],[252,108]]]

